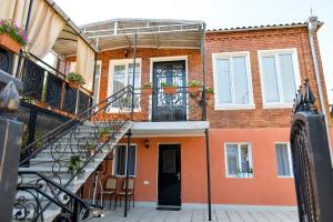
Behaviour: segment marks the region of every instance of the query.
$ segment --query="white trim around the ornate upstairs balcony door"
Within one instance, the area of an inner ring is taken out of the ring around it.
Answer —
[[[149,81],[153,84],[153,63],[154,62],[169,62],[169,61],[185,61],[185,78],[186,78],[186,84],[189,81],[189,60],[188,56],[175,56],[175,57],[152,57],[150,58],[150,74],[149,74]],[[186,85],[185,85],[186,87]],[[150,95],[152,97],[152,95]],[[152,110],[152,99],[150,101],[150,109]],[[186,97],[186,117],[189,117],[189,97]],[[152,112],[149,113],[149,119],[152,119]]]

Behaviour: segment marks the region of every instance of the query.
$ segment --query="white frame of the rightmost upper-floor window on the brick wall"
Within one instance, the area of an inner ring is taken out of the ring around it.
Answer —
[[[262,104],[263,109],[284,109],[292,108],[293,102],[284,102],[283,97],[283,85],[281,80],[281,71],[279,64],[279,56],[280,54],[292,54],[293,69],[294,69],[294,79],[295,79],[295,90],[297,90],[301,85],[301,74],[300,74],[300,64],[297,57],[296,48],[287,48],[287,49],[273,49],[273,50],[259,50],[258,51],[258,61],[259,61],[259,72],[260,72],[260,83],[261,83],[261,94],[262,94]],[[279,90],[279,100],[280,102],[266,102],[265,101],[265,92],[264,92],[264,79],[263,79],[263,69],[262,69],[262,57],[274,57],[274,62],[276,67],[276,80],[278,80],[278,90]],[[295,91],[296,93],[296,91]]]

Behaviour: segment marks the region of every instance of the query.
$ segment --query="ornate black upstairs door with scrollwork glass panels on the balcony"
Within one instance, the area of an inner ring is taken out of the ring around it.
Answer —
[[[174,94],[164,93],[161,83],[176,85]],[[185,61],[168,61],[153,63],[152,120],[184,121],[186,120],[186,68]]]

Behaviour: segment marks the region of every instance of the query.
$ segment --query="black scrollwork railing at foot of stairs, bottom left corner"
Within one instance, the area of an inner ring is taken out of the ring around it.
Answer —
[[[23,182],[23,178],[33,175],[33,180]],[[54,181],[38,172],[19,172],[17,202],[14,203],[13,218],[17,221],[43,221],[44,205],[47,200],[61,209],[63,221],[81,221],[90,216],[93,208],[88,201],[77,196],[70,190],[59,185]],[[34,200],[36,203],[33,203]],[[67,220],[64,220],[67,219]]]

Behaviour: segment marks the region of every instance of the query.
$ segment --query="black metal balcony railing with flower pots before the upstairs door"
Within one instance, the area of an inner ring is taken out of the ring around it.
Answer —
[[[134,121],[202,121],[203,88],[178,87],[172,92],[165,88],[135,89]]]

